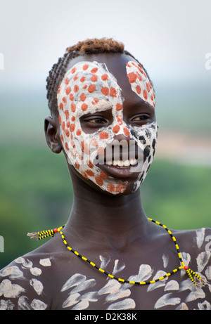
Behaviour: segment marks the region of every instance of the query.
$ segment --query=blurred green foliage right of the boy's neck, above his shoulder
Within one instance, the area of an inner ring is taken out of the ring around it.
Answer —
[[[156,160],[141,186],[146,214],[168,228],[211,227],[211,168]]]

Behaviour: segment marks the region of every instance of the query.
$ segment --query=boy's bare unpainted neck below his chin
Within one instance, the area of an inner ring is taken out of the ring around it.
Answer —
[[[125,245],[144,235],[148,219],[139,190],[130,195],[106,195],[71,177],[75,197],[65,226],[68,233],[110,245]]]

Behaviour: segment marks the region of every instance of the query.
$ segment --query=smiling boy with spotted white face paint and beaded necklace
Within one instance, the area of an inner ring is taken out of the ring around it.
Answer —
[[[146,70],[123,44],[88,39],[47,90],[46,142],[65,155],[74,202],[53,239],[1,271],[0,308],[211,309],[210,229],[170,231],[141,205],[157,138]]]

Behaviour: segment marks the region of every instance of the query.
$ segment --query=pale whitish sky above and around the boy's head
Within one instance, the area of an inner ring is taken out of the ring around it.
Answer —
[[[153,79],[208,77],[210,0],[8,0],[0,4],[0,51],[7,85],[12,76],[19,79],[16,86],[40,85],[67,46],[90,37],[123,41]]]

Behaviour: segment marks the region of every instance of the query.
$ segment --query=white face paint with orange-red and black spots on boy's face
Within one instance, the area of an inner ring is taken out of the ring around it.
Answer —
[[[132,90],[154,107],[153,87],[141,65],[129,61],[125,66],[126,74]],[[155,153],[157,124],[153,122],[142,127],[132,127],[124,122],[122,89],[106,65],[96,61],[82,61],[73,65],[58,87],[57,98],[60,138],[68,162],[85,179],[90,179],[109,193],[124,193],[127,180],[117,179],[111,175],[112,172],[102,171],[100,164],[110,168],[116,165],[124,174],[131,170],[137,172],[133,190],[139,188]],[[105,111],[111,112],[112,122],[87,134],[83,130],[82,119],[86,115]],[[112,154],[107,153],[111,152],[108,148],[113,145],[117,135],[123,136],[124,143],[131,144],[130,148],[138,147],[138,150],[132,152],[129,148],[130,155],[127,153],[127,156],[121,156],[119,160],[115,157],[114,160]]]

